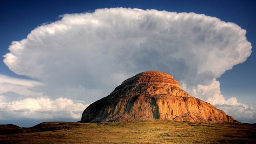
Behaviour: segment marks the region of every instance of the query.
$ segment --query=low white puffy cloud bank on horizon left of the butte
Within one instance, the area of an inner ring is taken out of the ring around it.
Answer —
[[[0,118],[81,118],[89,104],[74,103],[67,98],[50,100],[28,97],[20,101],[0,103]]]

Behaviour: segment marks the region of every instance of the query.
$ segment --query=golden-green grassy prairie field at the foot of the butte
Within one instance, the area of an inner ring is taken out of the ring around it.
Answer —
[[[177,121],[61,123],[28,133],[0,135],[0,143],[256,143],[256,124]]]

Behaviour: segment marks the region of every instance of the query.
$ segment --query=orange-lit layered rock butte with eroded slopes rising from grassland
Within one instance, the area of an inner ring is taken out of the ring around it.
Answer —
[[[137,74],[83,111],[81,123],[146,119],[237,122],[210,103],[191,97],[173,76],[159,71]]]

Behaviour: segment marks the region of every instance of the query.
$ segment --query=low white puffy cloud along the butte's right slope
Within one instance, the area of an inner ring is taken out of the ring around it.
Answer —
[[[226,101],[224,96],[221,95],[220,82],[216,81],[216,78],[209,85],[199,84],[195,88],[187,89],[187,92],[215,105],[217,109],[221,109],[227,115],[233,116],[235,120],[242,123],[256,123],[256,105],[238,103],[236,97],[229,98]]]

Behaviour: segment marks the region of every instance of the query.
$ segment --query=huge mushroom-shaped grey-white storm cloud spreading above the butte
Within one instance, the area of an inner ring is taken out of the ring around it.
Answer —
[[[245,34],[235,23],[203,14],[96,9],[65,14],[35,28],[27,39],[9,46],[4,62],[19,75],[43,82],[90,83],[86,86],[93,88],[116,75],[149,69],[175,75],[184,69],[182,78],[195,68],[220,77],[250,55]],[[180,69],[175,71],[171,62],[178,62]]]

